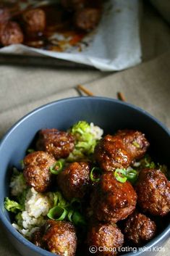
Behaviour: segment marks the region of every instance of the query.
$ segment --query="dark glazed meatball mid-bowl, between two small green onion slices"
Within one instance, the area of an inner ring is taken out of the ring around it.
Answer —
[[[64,197],[82,199],[90,186],[88,162],[72,162],[57,176],[57,182]]]

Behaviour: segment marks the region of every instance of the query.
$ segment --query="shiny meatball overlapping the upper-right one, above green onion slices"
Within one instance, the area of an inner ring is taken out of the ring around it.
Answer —
[[[121,140],[107,135],[95,146],[95,160],[103,170],[112,171],[116,168],[127,168],[132,162],[130,154],[124,149]]]

